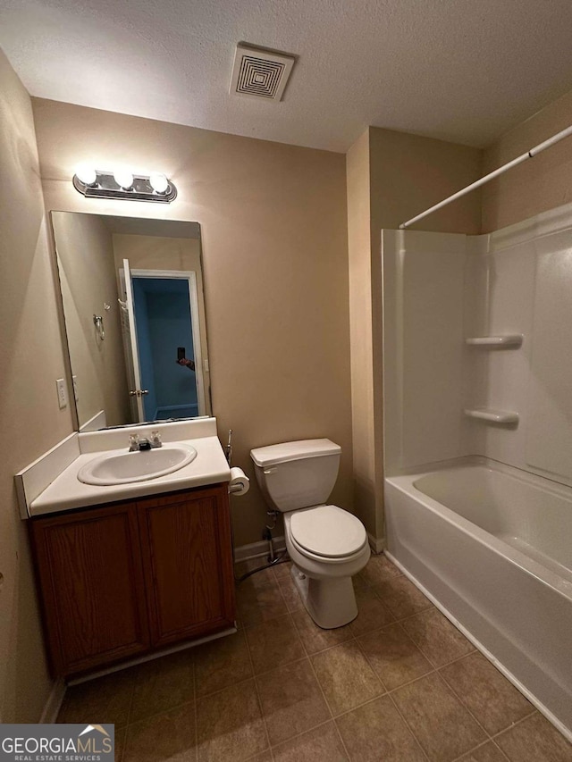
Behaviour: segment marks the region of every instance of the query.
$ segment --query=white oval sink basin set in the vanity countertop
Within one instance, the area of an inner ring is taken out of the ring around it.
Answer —
[[[161,448],[102,455],[80,468],[78,479],[84,484],[111,486],[132,481],[156,479],[178,471],[197,457],[191,445],[168,443]]]

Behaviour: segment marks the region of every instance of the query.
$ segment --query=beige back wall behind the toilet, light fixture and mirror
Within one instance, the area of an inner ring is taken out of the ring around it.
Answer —
[[[332,499],[352,506],[345,159],[34,100],[46,208],[200,222],[214,414],[250,448],[329,437],[341,444]],[[171,205],[102,202],[72,187],[80,162],[125,163],[174,180]],[[235,542],[260,539],[256,483],[233,502]]]

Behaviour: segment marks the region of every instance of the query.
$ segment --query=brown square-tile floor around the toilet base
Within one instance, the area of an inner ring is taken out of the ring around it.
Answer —
[[[117,762],[572,760],[386,557],[338,630],[315,626],[289,572],[240,583],[237,634],[75,686],[59,721],[115,723]]]

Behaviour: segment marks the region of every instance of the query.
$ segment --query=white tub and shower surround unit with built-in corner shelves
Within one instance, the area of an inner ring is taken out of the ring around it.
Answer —
[[[382,244],[389,555],[572,738],[572,205]]]

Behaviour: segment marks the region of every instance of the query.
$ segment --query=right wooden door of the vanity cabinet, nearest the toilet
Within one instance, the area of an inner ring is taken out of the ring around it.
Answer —
[[[140,501],[139,529],[153,645],[232,626],[227,485]]]

